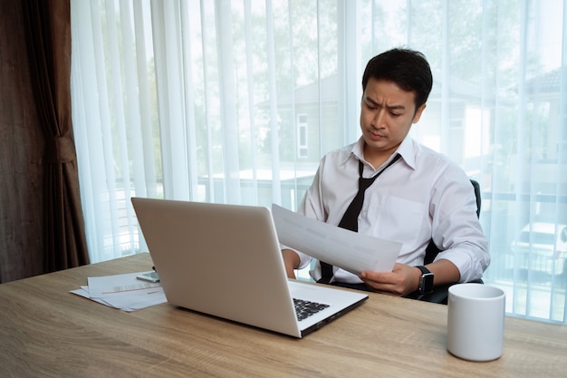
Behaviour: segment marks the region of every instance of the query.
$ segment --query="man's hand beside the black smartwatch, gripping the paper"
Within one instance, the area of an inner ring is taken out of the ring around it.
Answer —
[[[418,290],[421,271],[417,267],[396,263],[391,272],[365,271],[360,279],[375,291],[407,296]]]

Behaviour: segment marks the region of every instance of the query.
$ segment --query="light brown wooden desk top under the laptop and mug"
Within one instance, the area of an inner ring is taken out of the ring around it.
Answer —
[[[171,305],[126,313],[69,290],[87,276],[148,270],[148,254],[0,285],[2,377],[559,377],[567,326],[505,319],[505,352],[471,363],[446,350],[447,306],[370,295],[304,339]]]

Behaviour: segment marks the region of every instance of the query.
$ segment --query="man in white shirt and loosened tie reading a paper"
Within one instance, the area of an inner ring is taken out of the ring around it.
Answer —
[[[418,52],[393,49],[367,64],[362,77],[362,136],[322,158],[299,212],[340,225],[359,191],[359,178],[376,176],[368,189],[362,189],[362,208],[351,229],[358,227],[360,233],[403,246],[391,272],[355,276],[317,262],[311,272],[316,281],[407,296],[427,290],[425,277],[434,286],[467,282],[480,278],[488,267],[487,241],[470,180],[455,163],[408,137],[426,108],[432,84],[429,64]],[[423,267],[430,240],[441,252]],[[289,277],[312,259],[293,249],[282,253]]]

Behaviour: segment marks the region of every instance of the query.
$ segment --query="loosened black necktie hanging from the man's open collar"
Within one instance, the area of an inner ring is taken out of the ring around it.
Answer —
[[[340,228],[350,229],[351,231],[358,232],[359,231],[359,215],[360,210],[362,209],[362,204],[364,203],[364,192],[366,189],[372,185],[372,183],[378,179],[378,177],[382,174],[384,170],[387,170],[389,166],[394,164],[401,155],[397,154],[394,159],[392,159],[383,170],[380,170],[374,177],[370,179],[364,179],[362,177],[362,170],[364,170],[364,164],[361,160],[359,160],[359,192],[356,193],[354,199],[352,199],[351,204],[344,212],[341,222],[339,222]],[[327,264],[321,261],[321,279],[317,282],[321,284],[329,284],[332,278],[332,265]]]

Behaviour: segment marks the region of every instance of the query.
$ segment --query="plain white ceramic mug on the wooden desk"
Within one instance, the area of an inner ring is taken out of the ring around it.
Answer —
[[[447,350],[469,361],[492,361],[503,353],[505,293],[482,284],[449,287]]]

